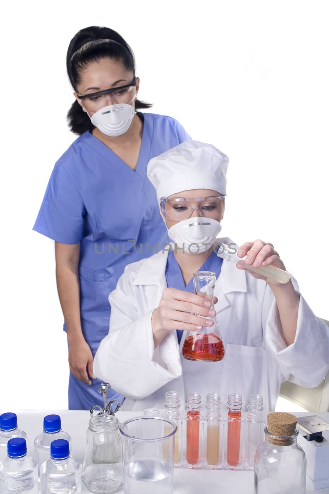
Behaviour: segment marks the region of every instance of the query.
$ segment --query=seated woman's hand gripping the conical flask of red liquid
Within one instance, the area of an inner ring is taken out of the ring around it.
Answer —
[[[217,303],[216,297],[214,303]],[[165,288],[159,307],[152,313],[154,345],[157,346],[167,332],[173,329],[198,331],[202,326],[213,326],[213,321],[205,319],[216,316],[216,311],[210,309],[210,306],[211,302],[200,295],[177,288]]]

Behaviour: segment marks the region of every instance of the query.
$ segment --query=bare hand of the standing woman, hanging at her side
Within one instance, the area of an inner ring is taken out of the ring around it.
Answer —
[[[72,374],[82,382],[91,385],[89,378],[95,378],[93,374],[93,355],[84,338],[78,338],[69,342],[69,364]]]

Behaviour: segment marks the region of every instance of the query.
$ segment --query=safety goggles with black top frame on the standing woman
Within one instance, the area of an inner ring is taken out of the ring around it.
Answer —
[[[132,103],[137,94],[136,84],[137,79],[136,76],[134,76],[134,79],[130,84],[112,87],[110,89],[104,89],[103,91],[89,94],[78,94],[77,96],[84,104],[87,112],[97,112],[108,105],[118,105],[122,103],[129,105]]]

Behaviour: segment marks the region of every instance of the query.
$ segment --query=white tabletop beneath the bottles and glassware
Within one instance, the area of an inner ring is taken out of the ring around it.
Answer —
[[[62,428],[72,437],[72,453],[74,458],[82,464],[85,450],[85,436],[89,422],[88,411],[54,411],[54,410],[0,410],[3,412],[17,413],[18,427],[28,434],[29,454],[34,455],[34,439],[42,432],[43,417],[49,413],[57,413],[62,418]],[[142,415],[141,412],[118,412],[116,416],[120,422],[132,416]],[[315,413],[294,413],[297,417],[305,415],[315,415]],[[317,413],[321,418],[329,422],[328,413]],[[89,491],[82,484],[82,493]],[[119,491],[123,493],[123,490]],[[253,494],[254,492],[254,472],[235,472],[228,470],[190,470],[174,469],[174,494]],[[306,494],[310,493],[329,494],[328,489],[312,491],[306,489]],[[143,493],[141,493],[143,494]],[[156,494],[156,493],[154,493]],[[292,493],[297,494],[297,493]]]

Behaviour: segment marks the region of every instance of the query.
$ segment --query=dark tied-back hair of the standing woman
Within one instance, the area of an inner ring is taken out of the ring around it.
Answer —
[[[133,50],[116,31],[106,27],[90,26],[76,33],[70,42],[66,55],[66,69],[74,91],[76,91],[77,84],[80,83],[81,69],[85,69],[91,62],[103,58],[120,60],[126,70],[135,74]],[[151,106],[150,103],[138,99],[135,101],[135,110],[150,108]],[[74,134],[81,135],[87,130],[92,131],[94,128],[90,118],[76,100],[68,111],[67,120]]]

